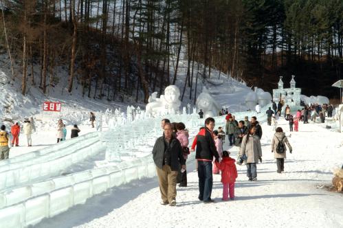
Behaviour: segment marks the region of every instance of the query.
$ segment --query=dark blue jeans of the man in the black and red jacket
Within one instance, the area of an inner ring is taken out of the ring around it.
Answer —
[[[210,201],[212,194],[212,162],[198,161],[199,200]]]

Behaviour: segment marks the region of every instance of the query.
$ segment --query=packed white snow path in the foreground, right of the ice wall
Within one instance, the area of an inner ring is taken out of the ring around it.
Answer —
[[[287,122],[279,123],[289,137]],[[342,166],[343,135],[318,124],[300,123],[299,129],[289,137],[293,154],[287,155],[285,172],[278,174],[270,146],[274,131],[263,124],[258,181],[247,181],[245,166],[237,166],[234,201],[221,201],[220,175],[214,175],[216,203],[199,201],[197,172],[192,171],[195,161],[191,161],[188,187],[177,187],[176,207],[159,205],[155,177],[94,196],[37,227],[343,227],[343,194],[321,187],[330,184],[332,168]],[[229,149],[236,159],[237,148]]]

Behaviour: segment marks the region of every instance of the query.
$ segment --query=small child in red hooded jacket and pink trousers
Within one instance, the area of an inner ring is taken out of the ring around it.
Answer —
[[[216,166],[221,170],[221,183],[223,183],[223,201],[234,200],[234,182],[238,176],[235,160],[229,156],[228,151],[223,151],[223,159]]]

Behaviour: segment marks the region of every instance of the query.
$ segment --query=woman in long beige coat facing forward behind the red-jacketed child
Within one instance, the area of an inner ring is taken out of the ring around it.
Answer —
[[[244,155],[247,157],[245,163],[247,164],[247,177],[249,181],[257,181],[256,163],[258,160],[262,161],[262,148],[260,138],[255,135],[256,127],[254,124],[249,128],[249,134],[242,139],[240,157]]]

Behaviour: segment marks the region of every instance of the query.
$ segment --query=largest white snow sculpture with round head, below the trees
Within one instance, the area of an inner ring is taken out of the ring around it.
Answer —
[[[181,101],[179,100],[180,91],[175,85],[170,85],[164,89],[164,95],[157,98],[157,93],[151,94],[146,104],[146,113],[157,115],[158,113],[174,113],[179,111]]]

